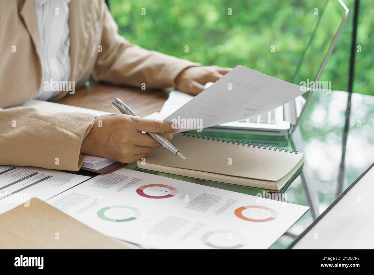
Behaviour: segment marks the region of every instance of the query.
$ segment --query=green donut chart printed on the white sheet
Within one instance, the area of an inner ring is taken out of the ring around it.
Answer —
[[[141,212],[138,208],[128,205],[112,205],[101,208],[96,214],[102,220],[123,222],[137,219]]]

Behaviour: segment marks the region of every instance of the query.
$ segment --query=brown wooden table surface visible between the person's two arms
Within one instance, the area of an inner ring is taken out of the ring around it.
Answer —
[[[160,111],[165,100],[168,99],[168,92],[91,83],[88,86],[77,89],[73,95],[68,94],[57,103],[114,113],[116,111],[111,104],[116,98],[128,104],[138,116],[144,117]]]

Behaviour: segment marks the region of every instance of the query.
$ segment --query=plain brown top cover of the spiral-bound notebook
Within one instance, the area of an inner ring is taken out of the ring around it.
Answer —
[[[278,181],[294,168],[303,153],[290,153],[242,143],[217,141],[179,134],[171,143],[183,153],[187,160],[172,155],[158,147],[145,159],[147,164],[191,169],[234,177]],[[231,163],[231,164],[230,164]]]

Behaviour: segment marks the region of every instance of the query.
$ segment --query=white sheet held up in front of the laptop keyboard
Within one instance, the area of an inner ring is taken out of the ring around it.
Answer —
[[[201,127],[199,123],[186,122],[185,128],[183,120],[201,121],[201,128],[207,128],[266,113],[306,91],[306,87],[237,65],[213,85],[166,117],[165,121],[178,121],[178,123],[181,121],[181,131]]]

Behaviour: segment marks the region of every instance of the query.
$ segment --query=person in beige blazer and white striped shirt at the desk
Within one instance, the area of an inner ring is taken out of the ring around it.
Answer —
[[[66,89],[46,89],[50,80],[77,88],[92,74],[98,81],[198,94],[229,71],[132,45],[117,33],[103,0],[1,1],[0,20],[0,108],[69,96]],[[80,169],[86,154],[135,161],[159,146],[142,131],[171,139],[177,130],[122,114],[51,114],[29,107],[0,109],[0,129],[0,165],[61,170]]]

